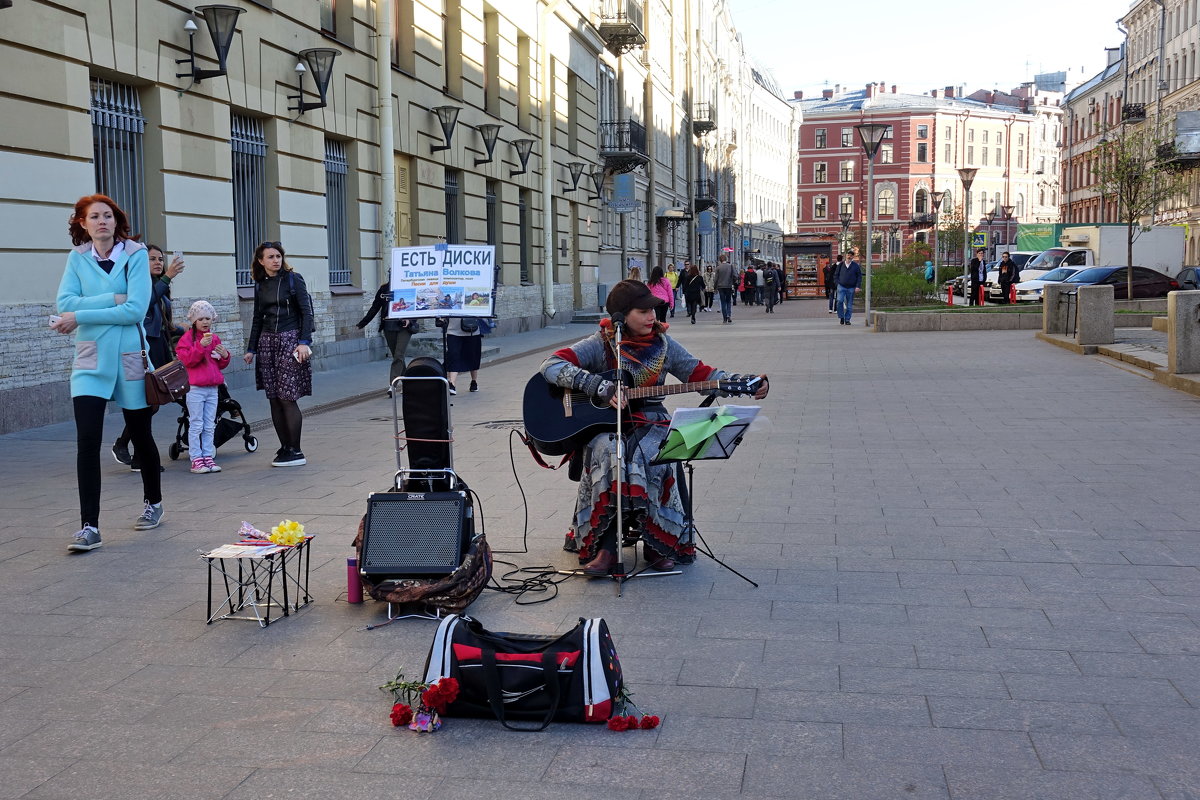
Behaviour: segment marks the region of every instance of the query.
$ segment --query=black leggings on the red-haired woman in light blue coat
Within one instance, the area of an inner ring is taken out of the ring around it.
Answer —
[[[100,528],[100,446],[104,438],[103,397],[74,397],[76,475],[79,481],[79,522]],[[154,443],[152,408],[122,409],[130,440],[142,462],[142,493],[148,503],[162,503],[158,447]]]

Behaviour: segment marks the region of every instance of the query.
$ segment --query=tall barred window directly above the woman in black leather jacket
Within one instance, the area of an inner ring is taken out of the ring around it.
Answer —
[[[235,279],[239,287],[252,287],[250,265],[266,235],[266,136],[263,120],[240,114],[230,119],[230,130]]]

